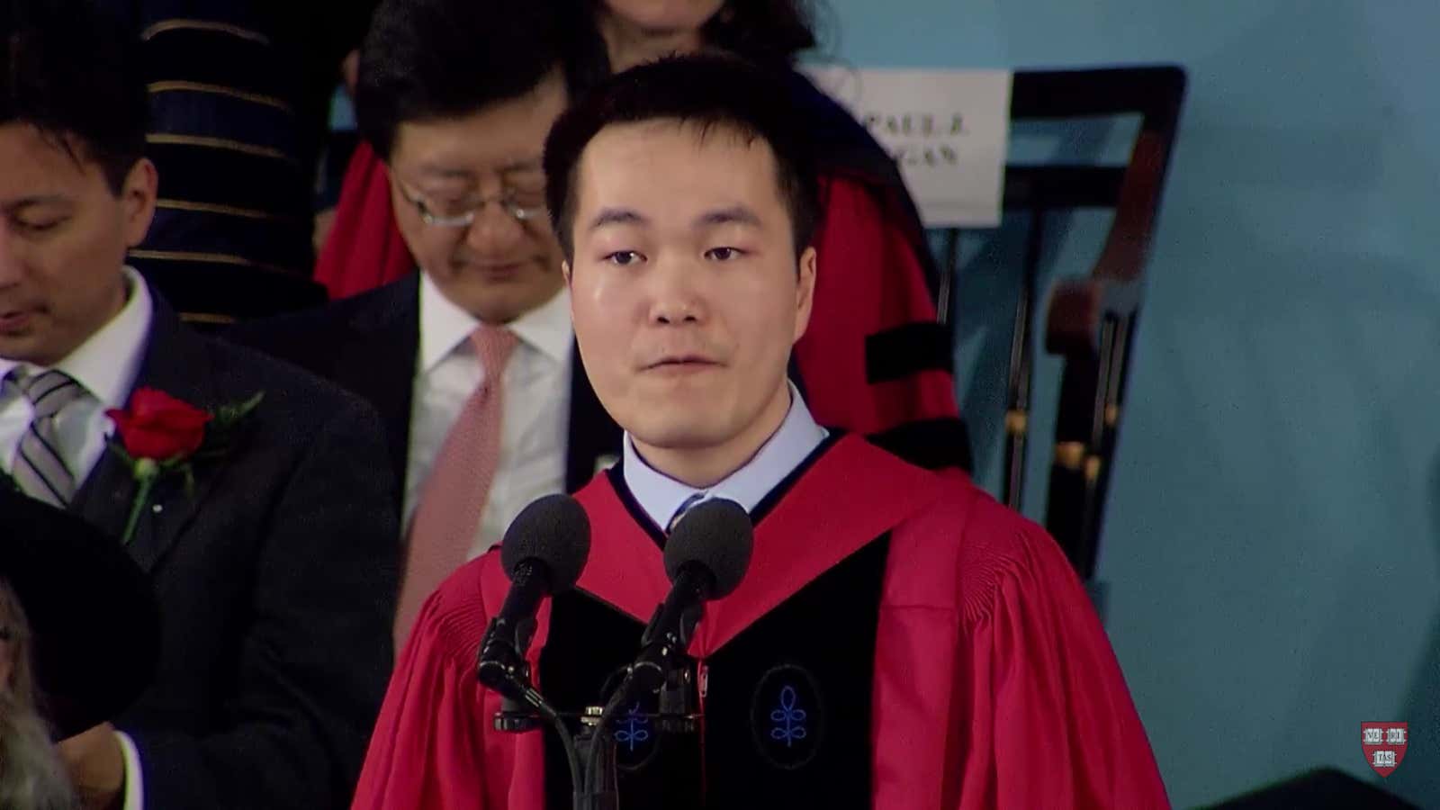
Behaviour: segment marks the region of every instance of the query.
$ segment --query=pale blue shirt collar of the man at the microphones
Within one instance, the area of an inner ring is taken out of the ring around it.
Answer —
[[[765,496],[799,467],[828,435],[829,431],[815,422],[801,392],[791,383],[791,409],[785,414],[779,430],[760,445],[755,457],[719,484],[697,490],[655,470],[641,458],[626,432],[622,466],[625,486],[645,515],[662,529],[674,517],[675,510],[696,494],[701,496],[700,500],[713,497],[733,500],[746,512],[755,512]]]

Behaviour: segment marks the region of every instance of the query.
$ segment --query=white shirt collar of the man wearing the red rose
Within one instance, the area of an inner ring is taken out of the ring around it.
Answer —
[[[75,382],[81,383],[95,399],[108,408],[124,408],[130,389],[140,375],[144,359],[145,339],[154,317],[154,301],[144,277],[132,268],[124,268],[125,306],[120,313],[91,334],[85,343],[55,365]],[[0,357],[0,378],[19,366],[14,360]]]

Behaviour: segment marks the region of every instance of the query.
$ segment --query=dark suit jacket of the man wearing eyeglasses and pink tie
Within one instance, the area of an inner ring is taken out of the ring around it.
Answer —
[[[330,379],[374,405],[384,422],[392,470],[397,481],[405,481],[420,349],[418,272],[318,310],[236,326],[225,334]],[[619,455],[621,435],[621,428],[600,408],[576,352],[566,438],[569,491],[585,486],[599,461]]]

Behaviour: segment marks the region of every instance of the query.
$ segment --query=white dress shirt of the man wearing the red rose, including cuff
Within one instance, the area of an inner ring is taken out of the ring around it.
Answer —
[[[71,402],[55,417],[55,431],[60,444],[58,450],[75,474],[76,487],[89,477],[101,454],[105,453],[105,440],[114,430],[105,411],[125,406],[125,399],[135,386],[135,376],[145,356],[150,323],[154,320],[154,301],[145,280],[128,267],[124,272],[125,306],[109,323],[53,366],[71,375],[85,389],[85,396]],[[20,365],[30,372],[49,370],[0,357],[0,379]],[[33,419],[35,412],[24,396],[10,395],[0,399],[0,466],[6,474],[14,470],[20,437],[30,428]],[[145,788],[140,752],[125,732],[117,731],[115,736],[125,760],[124,810],[144,810]]]

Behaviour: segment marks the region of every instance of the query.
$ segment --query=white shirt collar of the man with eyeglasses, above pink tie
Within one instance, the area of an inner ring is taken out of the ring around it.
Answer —
[[[480,319],[462,310],[441,293],[423,270],[420,271],[420,372],[432,370],[456,346],[465,343],[480,326]],[[570,327],[570,297],[562,287],[544,304],[510,321],[510,331],[521,342],[539,349],[556,362],[570,355],[575,333]]]

